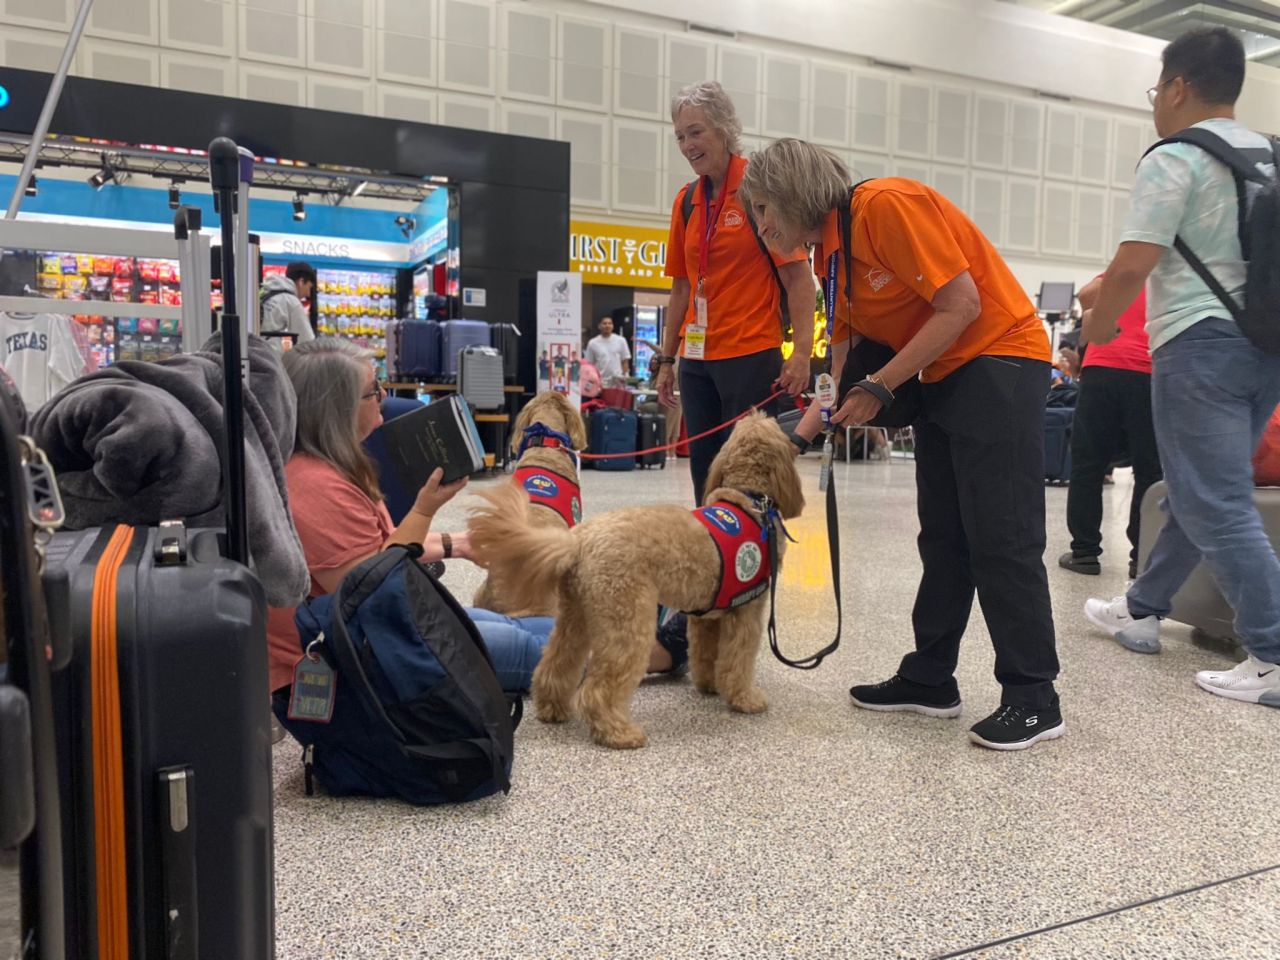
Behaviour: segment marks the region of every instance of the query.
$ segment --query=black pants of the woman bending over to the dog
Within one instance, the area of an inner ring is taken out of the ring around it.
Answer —
[[[1044,390],[1048,364],[978,357],[925,384],[915,485],[924,575],[911,622],[916,684],[955,672],[977,593],[1002,700],[1047,707],[1057,677],[1044,572]]]

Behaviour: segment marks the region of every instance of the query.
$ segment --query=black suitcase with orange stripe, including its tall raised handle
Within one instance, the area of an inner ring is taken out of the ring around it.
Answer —
[[[248,172],[230,141],[214,141],[209,155],[215,197],[230,211]],[[225,216],[224,238],[230,224]],[[225,531],[54,534],[42,572],[49,626],[31,636],[54,675],[9,671],[32,703],[47,691],[33,733],[38,726],[55,745],[36,758],[37,778],[49,764],[54,786],[41,795],[35,849],[23,851],[31,956],[275,954],[266,596],[247,566],[244,463],[234,453],[244,431],[233,246],[221,252]],[[5,771],[0,788],[12,786]]]

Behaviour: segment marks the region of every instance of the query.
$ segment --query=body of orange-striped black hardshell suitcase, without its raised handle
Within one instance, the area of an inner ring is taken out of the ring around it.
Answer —
[[[113,538],[128,545],[114,575],[110,671],[93,604]],[[266,596],[221,556],[220,538],[180,525],[102,527],[49,545],[46,595],[72,640],[70,666],[54,676],[68,956],[111,955],[99,943],[99,910],[120,893],[137,960],[274,954]],[[113,673],[124,776],[110,797],[95,739]],[[96,836],[104,805],[123,820],[123,850]],[[114,867],[110,891],[99,858]]]

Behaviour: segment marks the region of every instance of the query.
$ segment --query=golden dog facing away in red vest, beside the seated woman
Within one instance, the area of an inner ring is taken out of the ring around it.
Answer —
[[[568,445],[566,447],[566,440]],[[544,390],[525,404],[511,430],[511,452],[516,471],[509,484],[534,506],[529,524],[535,529],[567,530],[582,518],[577,457],[573,451],[586,447],[582,415],[568,397]],[[506,613],[508,617],[554,617],[556,594],[526,595],[504,582],[502,571],[490,571],[476,590],[474,607]]]

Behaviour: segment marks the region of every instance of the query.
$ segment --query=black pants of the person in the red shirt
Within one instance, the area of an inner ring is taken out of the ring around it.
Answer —
[[[1164,476],[1151,422],[1151,374],[1085,367],[1071,424],[1071,485],[1066,492],[1066,526],[1071,553],[1102,554],[1102,479],[1128,453],[1133,462],[1133,500],[1129,503],[1129,558],[1138,559],[1142,497]]]

